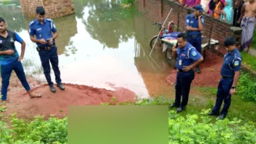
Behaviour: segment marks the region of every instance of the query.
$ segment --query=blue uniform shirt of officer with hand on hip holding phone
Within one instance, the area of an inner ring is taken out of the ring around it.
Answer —
[[[186,46],[181,49],[177,48],[177,62],[176,68],[178,70],[182,70],[183,66],[189,66],[194,61],[199,60],[202,55],[197,52],[196,48],[194,48],[190,43],[187,42]]]

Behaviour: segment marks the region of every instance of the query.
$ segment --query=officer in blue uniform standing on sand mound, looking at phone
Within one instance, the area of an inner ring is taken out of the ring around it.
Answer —
[[[36,14],[37,19],[29,24],[30,39],[31,41],[37,43],[37,50],[42,62],[44,75],[48,85],[50,86],[50,90],[52,92],[56,92],[50,76],[50,63],[52,64],[57,86],[61,90],[64,90],[65,87],[62,85],[62,80],[60,79],[57,47],[55,46],[55,38],[58,36],[57,29],[53,23],[53,20],[44,18],[45,10],[42,6],[38,6],[36,8]],[[52,32],[54,34],[52,34]],[[34,35],[36,35],[36,38]]]

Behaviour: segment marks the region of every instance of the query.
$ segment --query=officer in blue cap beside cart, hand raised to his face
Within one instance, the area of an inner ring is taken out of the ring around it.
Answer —
[[[201,53],[202,34],[204,24],[204,17],[202,16],[204,10],[202,5],[196,5],[195,11],[192,14],[186,16],[186,30],[187,30],[187,41],[192,44],[193,47]],[[201,73],[199,66],[196,67],[196,72]]]

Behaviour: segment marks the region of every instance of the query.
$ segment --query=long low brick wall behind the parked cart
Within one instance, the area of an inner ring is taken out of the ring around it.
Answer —
[[[153,22],[163,23],[171,8],[172,12],[166,21],[165,27],[167,27],[169,21],[174,21],[178,27],[178,31],[185,31],[185,17],[187,14],[191,14],[194,11],[193,9],[185,8],[179,3],[170,0],[137,0],[137,9]],[[204,36],[209,37],[211,23],[213,23],[211,38],[219,41],[221,47],[219,48],[219,52],[225,52],[222,46],[226,36],[235,36],[238,44],[240,44],[240,28],[231,27],[222,20],[212,19],[210,15],[205,15],[204,29],[202,32]]]

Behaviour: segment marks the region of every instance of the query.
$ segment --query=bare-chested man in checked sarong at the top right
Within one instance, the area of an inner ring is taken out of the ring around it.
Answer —
[[[238,20],[238,23],[241,22],[242,28],[241,48],[244,50],[247,47],[247,52],[249,52],[252,43],[252,36],[255,27],[255,13],[256,1],[249,0],[242,6],[241,16]]]

